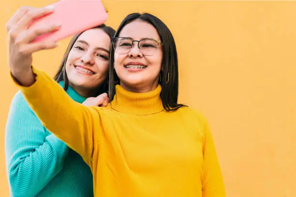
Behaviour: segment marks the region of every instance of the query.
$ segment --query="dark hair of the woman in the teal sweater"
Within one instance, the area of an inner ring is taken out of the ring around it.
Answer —
[[[110,37],[110,39],[112,40],[114,34],[115,34],[115,30],[111,27],[108,27],[106,25],[100,25],[100,26],[97,26],[97,27],[94,27],[94,28],[101,28],[106,34],[108,34],[108,36]],[[67,59],[68,59],[68,56],[69,56],[69,53],[71,51],[71,49],[73,48],[75,42],[77,41],[77,39],[79,38],[79,36],[82,34],[83,32],[81,33],[78,33],[76,35],[73,36],[73,38],[71,39],[68,47],[67,47],[67,50],[66,52],[64,53],[64,56],[62,58],[62,61],[60,63],[60,66],[59,66],[59,70],[57,71],[56,75],[55,75],[55,81],[56,82],[61,82],[63,81],[64,82],[64,90],[67,91],[68,87],[69,87],[69,80],[68,80],[68,77],[67,77],[67,72],[66,72],[66,62],[67,62]],[[110,45],[111,46],[111,45]],[[96,95],[99,95],[99,94],[102,94],[104,92],[108,92],[108,86],[109,86],[109,79],[107,77],[107,79],[104,81],[103,84],[100,85],[100,87],[98,87],[98,91],[96,92]]]

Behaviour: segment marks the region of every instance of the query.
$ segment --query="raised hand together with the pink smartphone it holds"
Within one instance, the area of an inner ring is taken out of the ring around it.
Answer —
[[[52,6],[54,10],[21,7],[6,23],[11,74],[24,86],[35,80],[31,70],[33,53],[55,48],[57,41],[107,19],[100,0],[60,0]]]

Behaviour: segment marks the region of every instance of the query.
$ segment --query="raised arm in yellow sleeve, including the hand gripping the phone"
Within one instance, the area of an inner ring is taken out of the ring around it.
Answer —
[[[92,156],[93,141],[99,140],[100,115],[94,107],[73,101],[62,87],[42,71],[31,67],[32,53],[56,47],[55,43],[32,43],[38,35],[59,29],[44,26],[28,29],[34,19],[49,14],[49,8],[21,8],[8,21],[9,66],[29,106],[44,126],[82,155],[87,163]],[[94,132],[95,131],[95,132]]]

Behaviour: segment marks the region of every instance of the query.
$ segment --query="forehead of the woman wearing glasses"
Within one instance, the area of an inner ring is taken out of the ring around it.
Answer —
[[[124,26],[119,33],[119,37],[131,37],[134,40],[141,40],[142,38],[160,40],[156,28],[141,20],[135,20]]]

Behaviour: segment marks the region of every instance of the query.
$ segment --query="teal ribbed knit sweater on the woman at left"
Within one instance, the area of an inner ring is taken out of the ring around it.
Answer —
[[[85,100],[71,87],[67,93]],[[5,156],[12,197],[93,197],[89,166],[42,125],[20,92],[8,115]]]

